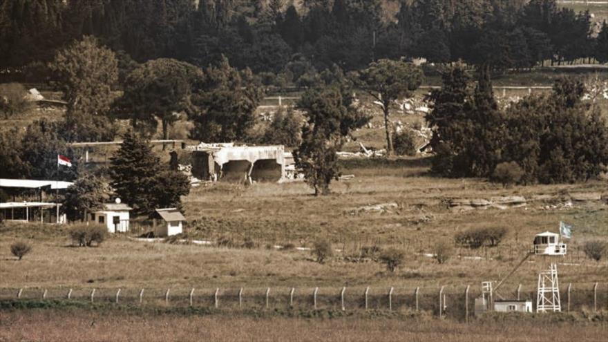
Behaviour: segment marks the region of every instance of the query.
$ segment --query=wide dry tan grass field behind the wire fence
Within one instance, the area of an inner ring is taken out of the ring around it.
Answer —
[[[608,206],[605,202],[574,202],[565,198],[581,191],[608,191],[606,181],[585,184],[513,187],[503,189],[484,180],[450,180],[426,174],[428,160],[351,160],[343,172],[355,178],[334,182],[332,196],[314,198],[303,183],[215,184],[200,187],[184,198],[189,220],[184,238],[228,240],[234,248],[144,243],[114,236],[100,247],[71,247],[66,227],[15,226],[0,228],[0,287],[385,287],[410,292],[439,285],[474,288],[484,280],[504,276],[531,248],[542,231],[557,231],[560,220],[573,225],[569,255],[558,259],[560,281],[575,288],[608,283],[608,263],[591,261],[580,251],[587,240],[606,240]],[[453,211],[452,198],[544,196],[517,209]],[[396,203],[385,212],[359,212],[360,207]],[[439,240],[453,243],[457,231],[471,227],[506,227],[509,233],[498,247],[456,248],[439,265],[428,254]],[[140,231],[142,232],[142,231]],[[327,263],[314,261],[310,251],[278,250],[274,245],[311,247],[323,238],[336,253]],[[240,248],[246,239],[256,245]],[[33,251],[23,260],[10,255],[15,240],[27,240]],[[362,247],[397,247],[406,262],[397,272],[380,263],[354,260]],[[271,247],[271,249],[267,249]],[[507,282],[531,291],[547,260],[531,258]],[[361,289],[362,291],[362,289]],[[460,291],[458,289],[457,291]],[[337,292],[336,292],[337,293]],[[603,293],[603,292],[602,292]]]

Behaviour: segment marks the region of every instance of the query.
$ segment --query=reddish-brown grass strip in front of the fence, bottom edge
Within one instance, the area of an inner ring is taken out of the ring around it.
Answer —
[[[500,319],[454,323],[403,316],[292,319],[254,315],[128,314],[70,310],[0,312],[0,341],[605,341],[589,321]]]

